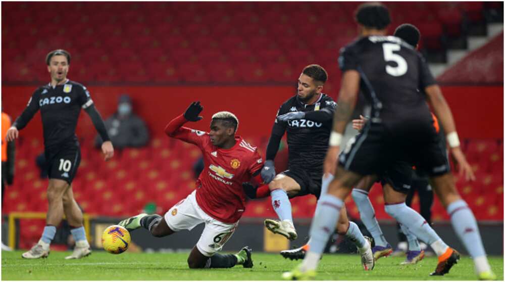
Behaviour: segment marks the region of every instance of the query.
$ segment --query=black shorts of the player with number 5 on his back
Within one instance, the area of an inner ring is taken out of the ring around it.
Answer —
[[[430,123],[417,126],[399,131],[383,123],[368,122],[361,133],[349,140],[338,157],[338,164],[362,175],[382,175],[398,160],[415,165],[430,176],[449,172],[447,152],[441,146],[440,136]]]

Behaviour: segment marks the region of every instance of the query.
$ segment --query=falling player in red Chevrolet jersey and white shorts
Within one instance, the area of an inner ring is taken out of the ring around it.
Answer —
[[[217,252],[231,238],[245,210],[242,182],[251,178],[263,182],[260,175],[263,160],[256,147],[235,136],[238,119],[230,112],[214,114],[209,132],[182,126],[188,121],[201,120],[198,115],[202,110],[199,102],[193,102],[165,128],[168,136],[194,144],[203,153],[205,169],[196,181],[196,190],[170,208],[164,217],[142,213],[119,225],[128,230],[143,227],[155,237],[164,237],[204,222],[205,229],[187,260],[189,268],[225,268],[237,264],[251,268],[248,247],[234,255]]]

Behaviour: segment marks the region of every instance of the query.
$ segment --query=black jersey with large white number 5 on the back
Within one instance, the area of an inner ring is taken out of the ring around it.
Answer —
[[[372,121],[393,130],[413,127],[421,120],[431,125],[425,96],[418,89],[436,82],[411,45],[394,36],[362,37],[342,48],[338,61],[342,72],[360,73],[360,89],[372,106]]]

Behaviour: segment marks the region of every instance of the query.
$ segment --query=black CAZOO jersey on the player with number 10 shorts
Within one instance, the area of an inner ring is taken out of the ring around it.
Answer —
[[[77,140],[75,128],[81,108],[85,109],[92,104],[89,91],[80,83],[67,80],[65,84],[55,87],[47,84],[33,92],[26,109],[16,120],[16,126],[18,129],[24,128],[40,110],[44,145],[51,148]]]

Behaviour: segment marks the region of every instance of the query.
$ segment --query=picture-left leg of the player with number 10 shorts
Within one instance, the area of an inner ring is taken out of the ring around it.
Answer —
[[[23,253],[23,258],[45,258],[49,255],[49,245],[55,238],[56,226],[60,225],[63,218],[63,194],[69,184],[61,179],[49,179],[47,187],[47,201],[49,207],[46,215],[46,225],[38,243],[28,252]]]

